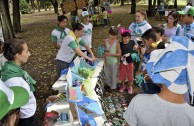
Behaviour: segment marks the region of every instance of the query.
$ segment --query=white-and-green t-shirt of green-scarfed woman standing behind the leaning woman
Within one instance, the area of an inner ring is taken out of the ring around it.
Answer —
[[[68,35],[70,32],[70,29],[65,28],[64,31],[65,31],[65,34]],[[61,32],[55,28],[51,33],[51,37],[53,36],[57,38],[57,44],[61,46],[62,42],[64,41],[64,38],[61,38]]]

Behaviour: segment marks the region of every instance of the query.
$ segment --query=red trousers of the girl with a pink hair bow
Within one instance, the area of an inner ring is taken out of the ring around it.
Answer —
[[[127,78],[130,82],[133,82],[134,80],[133,71],[134,71],[133,63],[130,63],[128,65],[124,65],[123,63],[120,63],[119,79],[124,81]]]

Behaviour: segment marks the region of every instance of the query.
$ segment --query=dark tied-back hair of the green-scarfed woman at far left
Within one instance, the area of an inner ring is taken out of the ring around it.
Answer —
[[[19,39],[9,39],[6,40],[3,46],[3,55],[7,60],[14,60],[17,53],[21,54],[24,50],[22,45],[25,44],[24,41]]]

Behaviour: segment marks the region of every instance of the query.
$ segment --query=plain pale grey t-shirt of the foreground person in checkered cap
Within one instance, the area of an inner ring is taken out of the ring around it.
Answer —
[[[139,94],[123,117],[130,126],[194,126],[194,107],[167,102],[157,94]]]

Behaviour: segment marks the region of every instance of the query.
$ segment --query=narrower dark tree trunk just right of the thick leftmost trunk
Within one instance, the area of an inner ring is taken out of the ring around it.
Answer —
[[[21,32],[21,23],[20,23],[20,5],[19,0],[13,0],[13,30]]]

